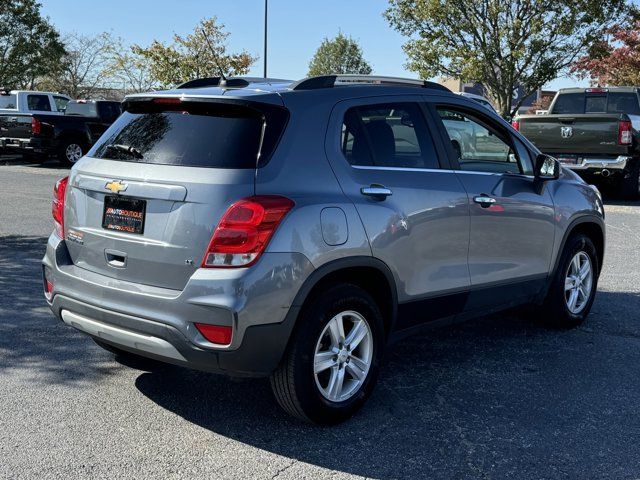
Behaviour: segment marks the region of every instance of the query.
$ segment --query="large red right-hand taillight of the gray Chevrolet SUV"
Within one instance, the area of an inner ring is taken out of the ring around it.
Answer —
[[[277,195],[260,195],[234,203],[213,232],[202,266],[247,267],[269,243],[280,221],[294,206]]]

